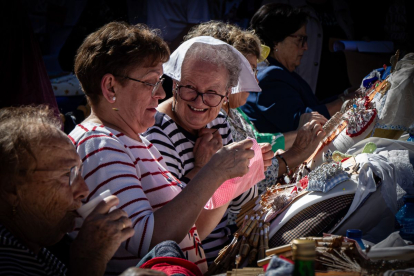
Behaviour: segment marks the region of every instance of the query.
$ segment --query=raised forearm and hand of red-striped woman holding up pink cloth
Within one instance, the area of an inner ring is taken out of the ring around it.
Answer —
[[[254,151],[250,149],[252,146],[252,141],[244,140],[220,149],[180,194],[155,211],[150,247],[166,239],[181,242],[217,188],[227,179],[243,176],[248,172],[249,160],[254,156]],[[213,229],[215,226],[209,225]],[[208,232],[200,230],[203,235]]]

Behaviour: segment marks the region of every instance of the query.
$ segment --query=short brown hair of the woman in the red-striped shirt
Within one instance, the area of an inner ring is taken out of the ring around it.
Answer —
[[[167,43],[155,30],[143,24],[111,22],[83,41],[75,59],[75,74],[91,104],[97,104],[105,74],[127,75],[137,64],[154,66],[168,61],[169,56]],[[125,81],[119,78],[121,84]]]

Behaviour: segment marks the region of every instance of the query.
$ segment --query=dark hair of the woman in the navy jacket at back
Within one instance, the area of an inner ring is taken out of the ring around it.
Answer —
[[[252,17],[250,28],[260,37],[263,44],[273,48],[306,25],[308,13],[287,4],[263,5]]]

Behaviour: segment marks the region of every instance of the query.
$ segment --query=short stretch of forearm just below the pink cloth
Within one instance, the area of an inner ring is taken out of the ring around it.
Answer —
[[[204,240],[214,230],[214,228],[216,228],[217,224],[219,224],[220,220],[223,218],[229,203],[230,201],[227,204],[213,210],[203,209],[201,211],[200,216],[196,221],[200,240]]]

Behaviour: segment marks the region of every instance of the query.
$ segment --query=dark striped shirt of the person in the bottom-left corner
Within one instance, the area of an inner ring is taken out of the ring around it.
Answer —
[[[58,276],[66,267],[46,248],[35,254],[0,224],[0,275]]]

